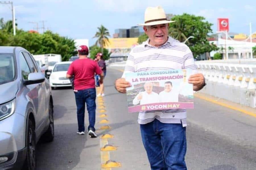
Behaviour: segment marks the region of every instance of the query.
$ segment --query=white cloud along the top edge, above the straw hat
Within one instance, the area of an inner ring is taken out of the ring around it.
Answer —
[[[146,7],[155,7],[161,5],[162,7],[184,7],[191,4],[192,0],[95,0],[94,4],[101,10],[112,11],[112,12],[135,12],[136,10],[145,10]],[[184,5],[185,4],[185,5]]]

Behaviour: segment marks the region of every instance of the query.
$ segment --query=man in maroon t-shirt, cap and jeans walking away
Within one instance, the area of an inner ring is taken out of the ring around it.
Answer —
[[[84,135],[84,110],[85,103],[89,116],[88,135],[97,137],[95,133],[96,89],[94,82],[95,73],[100,75],[100,83],[103,83],[104,73],[98,64],[88,58],[88,47],[81,45],[78,48],[79,59],[69,66],[67,78],[74,76],[74,93],[77,104],[77,134]]]

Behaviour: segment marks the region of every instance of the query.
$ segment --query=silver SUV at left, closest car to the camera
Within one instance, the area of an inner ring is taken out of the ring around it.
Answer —
[[[36,169],[40,138],[54,138],[49,81],[26,49],[0,46],[0,169]]]

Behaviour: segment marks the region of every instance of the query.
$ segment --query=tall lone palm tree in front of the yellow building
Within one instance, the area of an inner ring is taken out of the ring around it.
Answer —
[[[108,29],[106,29],[103,25],[98,27],[98,32],[94,35],[93,38],[98,38],[95,42],[95,45],[99,44],[101,47],[101,53],[103,54],[103,47],[109,42],[108,36],[110,36]]]

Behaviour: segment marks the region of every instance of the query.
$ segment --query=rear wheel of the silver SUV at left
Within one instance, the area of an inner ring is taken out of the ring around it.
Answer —
[[[51,142],[54,138],[53,103],[51,101],[49,102],[49,121],[49,127],[42,137],[46,142]]]

